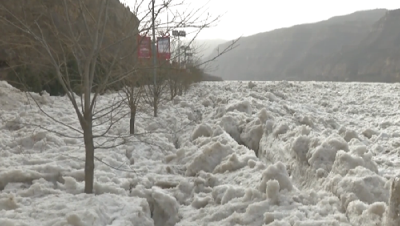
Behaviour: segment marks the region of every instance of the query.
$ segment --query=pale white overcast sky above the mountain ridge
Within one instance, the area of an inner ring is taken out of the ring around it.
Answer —
[[[125,0],[133,2],[134,0]],[[180,2],[182,0],[176,0]],[[296,24],[311,23],[333,16],[368,9],[397,9],[400,0],[183,0],[191,8],[205,4],[213,15],[222,15],[213,28],[199,39],[235,39]],[[162,2],[156,0],[156,2]]]

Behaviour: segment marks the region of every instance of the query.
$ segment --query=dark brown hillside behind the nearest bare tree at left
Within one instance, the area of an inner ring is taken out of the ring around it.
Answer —
[[[138,25],[119,0],[1,1],[0,80],[52,95],[65,92],[61,78],[79,92],[84,73],[116,84],[134,66]]]

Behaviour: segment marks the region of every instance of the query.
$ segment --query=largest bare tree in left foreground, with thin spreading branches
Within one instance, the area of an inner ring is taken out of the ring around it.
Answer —
[[[44,113],[82,134],[86,193],[93,192],[94,139],[106,135],[121,119],[112,113],[122,101],[101,108],[96,101],[130,74],[126,64],[135,53],[138,19],[121,6],[115,0],[0,2],[1,26],[12,34],[3,43],[17,50],[23,64],[49,65],[76,112],[81,128]],[[106,129],[96,130],[105,117],[109,117]]]

